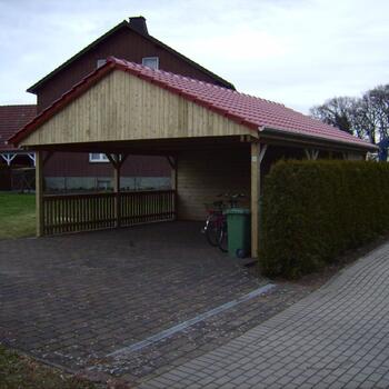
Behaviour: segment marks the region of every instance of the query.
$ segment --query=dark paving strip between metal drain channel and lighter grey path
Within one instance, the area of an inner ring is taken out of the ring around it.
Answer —
[[[241,336],[309,292],[309,288],[296,285],[278,286],[270,295],[229,309],[139,352],[99,359],[89,369],[108,371],[128,382],[158,376]]]

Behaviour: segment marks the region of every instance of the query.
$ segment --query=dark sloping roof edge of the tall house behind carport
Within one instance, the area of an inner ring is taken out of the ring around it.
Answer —
[[[62,64],[60,64],[58,68],[56,68],[53,71],[51,71],[49,74],[44,76],[42,79],[40,79],[38,82],[36,82],[33,86],[31,86],[29,89],[27,89],[28,92],[34,93],[39,87],[41,87],[43,83],[46,83],[47,81],[49,81],[52,77],[54,77],[58,72],[60,72],[62,69],[67,68],[69,64],[71,64],[72,62],[74,62],[78,58],[80,58],[81,56],[83,56],[84,53],[87,53],[88,51],[92,50],[94,47],[97,47],[100,42],[104,41],[107,38],[109,38],[110,36],[112,36],[114,32],[117,32],[120,29],[129,29],[132,32],[136,32],[138,34],[140,34],[141,37],[148,39],[150,42],[157,44],[158,47],[169,51],[170,53],[172,53],[176,57],[179,57],[180,59],[182,59],[183,61],[186,61],[187,63],[189,63],[191,67],[200,70],[201,72],[206,73],[207,76],[213,78],[216,81],[220,82],[222,86],[225,86],[226,88],[230,88],[230,89],[235,89],[233,84],[228,82],[227,80],[222,79],[221,77],[215,74],[213,72],[211,72],[210,70],[203,68],[202,66],[200,66],[199,63],[192,61],[191,59],[189,59],[188,57],[181,54],[180,52],[176,51],[174,49],[172,49],[171,47],[164,44],[163,42],[159,41],[158,39],[151,37],[148,33],[142,33],[141,31],[139,31],[138,29],[133,28],[130,26],[130,23],[127,20],[123,20],[121,23],[117,24],[116,27],[113,27],[111,30],[109,30],[108,32],[106,32],[104,34],[102,34],[100,38],[98,38],[97,40],[94,40],[92,43],[88,44],[86,48],[83,48],[81,51],[79,51],[77,54],[74,54],[73,57],[71,57],[69,60],[67,60],[66,62],[63,62]]]

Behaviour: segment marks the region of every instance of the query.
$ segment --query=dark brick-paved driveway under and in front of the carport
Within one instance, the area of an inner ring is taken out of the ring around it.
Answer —
[[[197,325],[189,340],[176,336],[144,355],[107,357],[266,282],[209,247],[200,227],[171,222],[0,241],[0,341],[72,370],[133,381],[252,327],[262,311],[249,303],[229,312],[228,328],[225,317],[222,326]]]

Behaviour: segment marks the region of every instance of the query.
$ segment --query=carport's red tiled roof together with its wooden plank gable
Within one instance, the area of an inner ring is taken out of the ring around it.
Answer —
[[[31,147],[242,134],[375,149],[280,103],[113,57],[10,142]]]

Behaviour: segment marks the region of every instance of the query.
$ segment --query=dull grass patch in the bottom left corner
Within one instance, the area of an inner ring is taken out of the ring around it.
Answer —
[[[0,345],[0,389],[93,389],[86,380],[64,375]]]

